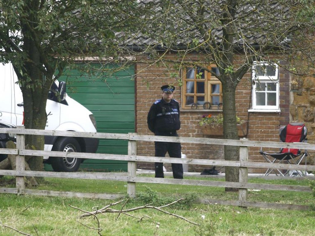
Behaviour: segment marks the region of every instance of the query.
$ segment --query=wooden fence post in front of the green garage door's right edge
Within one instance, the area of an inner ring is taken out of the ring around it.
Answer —
[[[132,133],[129,133],[132,134]],[[137,155],[137,141],[129,140],[128,141],[128,155]],[[137,171],[137,162],[136,161],[128,161],[128,177],[133,178],[136,177]],[[136,183],[135,182],[127,182],[127,193],[129,197],[135,197],[136,195]]]

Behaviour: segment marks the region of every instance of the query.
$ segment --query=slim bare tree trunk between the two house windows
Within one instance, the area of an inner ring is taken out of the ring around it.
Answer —
[[[231,79],[226,78],[226,83],[222,84],[223,90],[223,137],[224,139],[238,140],[236,108],[235,108],[235,90],[236,84]],[[239,160],[239,147],[224,146],[224,160]],[[229,182],[238,182],[239,168],[233,166],[225,167],[225,180]],[[226,191],[237,191],[238,188],[226,188]]]

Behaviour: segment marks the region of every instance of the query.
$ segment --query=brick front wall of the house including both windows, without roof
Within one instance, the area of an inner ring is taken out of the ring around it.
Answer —
[[[216,69],[215,65],[209,65],[209,67],[211,70]],[[136,132],[138,134],[154,135],[147,128],[147,113],[152,103],[162,97],[160,87],[172,83],[176,86],[174,98],[181,107],[179,136],[222,138],[204,135],[198,125],[202,115],[218,115],[222,112],[222,92],[220,81],[206,71],[203,71],[205,72],[204,76],[197,78],[197,70],[198,68],[183,68],[181,70],[182,86],[180,86],[174,78],[169,77],[165,68],[156,65],[147,67],[146,64],[136,64]],[[248,122],[248,132],[244,138],[255,141],[278,142],[279,127],[292,121],[289,113],[290,103],[293,100],[293,93],[290,92],[291,75],[280,67],[268,66],[265,71],[255,73],[255,70],[249,71],[239,82],[236,91],[237,115]],[[257,89],[258,86],[262,89]],[[195,89],[191,90],[191,87]],[[199,96],[203,98],[199,99]],[[262,97],[267,100],[262,101]],[[203,106],[204,104],[206,106]],[[187,158],[224,159],[223,146],[221,145],[182,143],[182,152],[186,154]],[[137,153],[138,155],[153,156],[154,143],[138,142]],[[265,161],[259,154],[259,148],[249,149],[249,160]],[[166,168],[169,167],[167,164],[165,166]],[[138,163],[138,168],[154,169],[152,163]],[[200,172],[204,168],[206,166],[189,166],[189,171]],[[224,168],[221,171],[224,171]]]

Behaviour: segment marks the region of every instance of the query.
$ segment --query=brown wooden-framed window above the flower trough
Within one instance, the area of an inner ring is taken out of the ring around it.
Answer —
[[[214,76],[219,70],[187,67],[183,70],[182,109],[222,109],[222,85]]]

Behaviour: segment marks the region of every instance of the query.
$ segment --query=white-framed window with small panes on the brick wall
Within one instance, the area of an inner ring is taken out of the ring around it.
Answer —
[[[252,67],[252,82],[250,111],[279,111],[278,65],[255,62]]]

